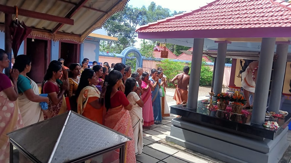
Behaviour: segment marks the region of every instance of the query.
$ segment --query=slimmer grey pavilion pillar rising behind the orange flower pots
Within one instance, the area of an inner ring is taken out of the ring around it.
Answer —
[[[216,59],[215,75],[214,75],[214,83],[213,83],[213,92],[215,94],[221,93],[221,90],[222,90],[223,74],[224,74],[224,66],[225,66],[225,58],[226,58],[226,48],[227,48],[226,41],[218,43],[217,59]],[[215,97],[213,97],[213,101],[216,101]]]

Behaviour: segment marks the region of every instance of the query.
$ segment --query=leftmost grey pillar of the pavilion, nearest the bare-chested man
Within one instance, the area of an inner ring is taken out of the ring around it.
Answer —
[[[195,38],[193,43],[191,75],[189,81],[187,107],[190,109],[197,108],[202,53],[203,53],[204,38]]]

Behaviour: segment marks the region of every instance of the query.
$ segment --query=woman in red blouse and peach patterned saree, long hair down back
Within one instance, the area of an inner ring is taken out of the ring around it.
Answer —
[[[120,91],[118,91],[118,89]],[[104,117],[104,125],[115,131],[132,138],[125,144],[125,163],[135,163],[135,147],[133,139],[132,121],[129,110],[132,104],[129,103],[125,94],[125,87],[122,84],[122,74],[119,71],[112,70],[109,73],[109,82],[105,92],[105,107],[107,113]],[[119,152],[119,150],[116,150]],[[119,154],[110,154],[103,157],[103,162],[118,159]]]

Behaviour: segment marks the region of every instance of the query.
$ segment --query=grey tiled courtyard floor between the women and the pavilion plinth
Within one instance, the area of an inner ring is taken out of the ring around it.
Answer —
[[[167,96],[174,96],[174,92],[167,92]],[[208,97],[199,97],[203,100]],[[169,107],[176,105],[176,101],[168,102]],[[137,155],[137,163],[223,163],[209,156],[197,154],[194,152],[185,152],[178,148],[173,148],[163,143],[166,136],[171,131],[171,120],[176,115],[170,114],[170,117],[164,117],[161,124],[155,124],[149,127],[143,127],[143,152]],[[288,132],[288,142],[291,145],[291,130]],[[289,162],[291,163],[291,161]]]

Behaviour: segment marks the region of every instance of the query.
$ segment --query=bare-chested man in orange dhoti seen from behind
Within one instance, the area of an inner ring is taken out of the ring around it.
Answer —
[[[173,99],[176,100],[176,104],[182,104],[183,101],[188,100],[188,85],[190,76],[189,73],[189,66],[184,66],[183,73],[180,73],[172,79],[172,84],[176,86],[176,91],[174,94]],[[177,80],[178,84],[175,84]]]

